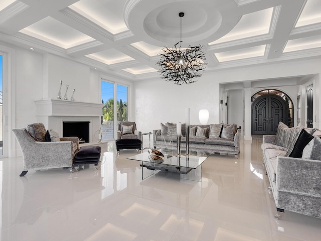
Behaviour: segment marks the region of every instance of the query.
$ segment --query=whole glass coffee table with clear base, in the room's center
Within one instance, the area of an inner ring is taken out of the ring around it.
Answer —
[[[211,155],[202,151],[190,151],[189,155],[182,151],[178,156],[177,150],[157,149],[164,154],[164,160],[153,160],[148,151],[139,153],[126,159],[140,161],[142,179],[150,177],[159,171],[175,172],[181,178],[202,181],[202,163]]]

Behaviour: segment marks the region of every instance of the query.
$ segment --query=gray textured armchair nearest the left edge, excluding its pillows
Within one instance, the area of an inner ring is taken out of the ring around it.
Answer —
[[[75,153],[79,150],[78,137],[60,138],[60,141],[38,141],[26,128],[13,129],[23,154],[24,167],[20,176],[28,170],[72,167]]]

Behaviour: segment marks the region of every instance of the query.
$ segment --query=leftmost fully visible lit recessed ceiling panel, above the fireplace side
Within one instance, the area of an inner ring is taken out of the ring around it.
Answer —
[[[94,39],[51,17],[24,28],[20,31],[34,38],[68,49]]]

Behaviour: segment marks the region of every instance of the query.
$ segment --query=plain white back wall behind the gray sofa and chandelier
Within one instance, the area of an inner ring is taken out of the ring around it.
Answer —
[[[176,85],[163,79],[135,82],[135,121],[137,129],[149,132],[161,128],[161,122],[185,123],[186,109],[191,109],[191,124],[200,124],[200,109],[210,112],[208,123],[219,121],[218,81],[200,78],[196,83]]]

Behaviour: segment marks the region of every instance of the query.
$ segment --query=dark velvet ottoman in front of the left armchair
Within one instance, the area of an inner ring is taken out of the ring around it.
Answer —
[[[98,146],[81,147],[74,158],[74,167],[78,169],[79,165],[95,164],[97,169],[100,160],[101,148]]]

